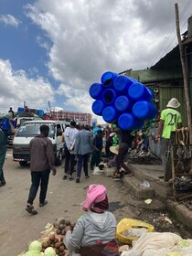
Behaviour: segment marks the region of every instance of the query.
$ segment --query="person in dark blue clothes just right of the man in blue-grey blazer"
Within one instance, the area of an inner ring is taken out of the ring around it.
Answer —
[[[94,165],[99,166],[101,162],[101,150],[102,150],[102,131],[98,130],[97,135],[91,139],[91,170]]]

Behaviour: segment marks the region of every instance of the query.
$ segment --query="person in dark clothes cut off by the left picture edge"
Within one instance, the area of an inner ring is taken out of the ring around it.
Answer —
[[[6,155],[6,145],[8,142],[8,136],[13,135],[15,132],[15,127],[12,124],[12,117],[8,120],[8,127],[3,127],[0,123],[0,187],[5,186],[5,176],[3,171],[3,166],[5,163]]]

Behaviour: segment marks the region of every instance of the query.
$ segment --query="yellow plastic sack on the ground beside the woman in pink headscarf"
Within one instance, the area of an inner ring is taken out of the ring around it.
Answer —
[[[147,232],[153,232],[155,230],[154,226],[148,224],[144,221],[138,219],[122,219],[117,224],[117,231],[116,231],[116,240],[125,243],[125,244],[132,244],[133,240],[138,240],[138,236],[131,236],[125,235],[126,230],[128,229],[143,229],[145,228]],[[138,233],[138,232],[137,232]]]

